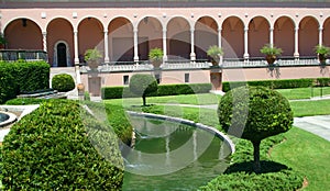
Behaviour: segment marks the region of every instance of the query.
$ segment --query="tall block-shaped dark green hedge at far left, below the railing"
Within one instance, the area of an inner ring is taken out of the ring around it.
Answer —
[[[0,103],[22,92],[50,88],[50,65],[45,61],[0,63]]]

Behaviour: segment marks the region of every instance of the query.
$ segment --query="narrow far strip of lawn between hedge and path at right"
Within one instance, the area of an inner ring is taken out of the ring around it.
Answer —
[[[278,89],[276,91],[289,100],[309,99],[321,94],[321,88]],[[322,94],[330,94],[330,87],[322,88]]]

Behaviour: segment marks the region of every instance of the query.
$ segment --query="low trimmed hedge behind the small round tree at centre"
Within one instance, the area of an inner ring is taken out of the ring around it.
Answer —
[[[176,96],[176,94],[194,94],[194,93],[208,93],[211,90],[211,83],[183,83],[183,85],[158,85],[156,93],[152,97]],[[119,99],[119,98],[133,98],[129,87],[103,87],[101,89],[102,99]]]

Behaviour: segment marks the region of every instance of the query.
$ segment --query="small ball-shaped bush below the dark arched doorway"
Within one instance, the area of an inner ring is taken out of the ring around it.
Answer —
[[[52,79],[52,88],[59,92],[67,92],[75,89],[75,80],[68,74],[55,75]]]

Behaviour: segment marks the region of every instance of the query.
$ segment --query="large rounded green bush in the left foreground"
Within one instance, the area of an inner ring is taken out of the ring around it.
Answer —
[[[122,186],[116,136],[70,100],[44,102],[24,116],[6,136],[1,154],[4,190],[120,190]]]

